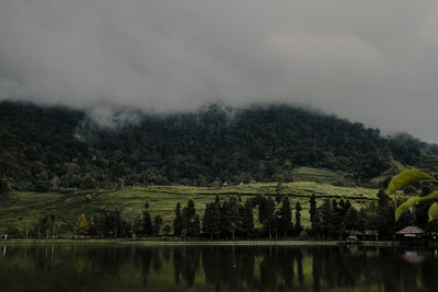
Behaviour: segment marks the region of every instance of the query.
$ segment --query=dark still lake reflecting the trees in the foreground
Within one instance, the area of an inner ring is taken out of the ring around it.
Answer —
[[[0,291],[438,291],[438,250],[0,246]]]

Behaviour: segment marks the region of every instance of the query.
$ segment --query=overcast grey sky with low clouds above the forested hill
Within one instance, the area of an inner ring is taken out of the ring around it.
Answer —
[[[1,0],[0,100],[287,103],[438,142],[438,1]]]

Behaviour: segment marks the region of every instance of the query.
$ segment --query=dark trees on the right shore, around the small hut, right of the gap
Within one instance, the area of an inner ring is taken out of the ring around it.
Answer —
[[[429,194],[429,187],[423,186],[420,196]],[[394,212],[406,198],[390,197],[379,190],[378,200],[359,210],[346,200],[324,199],[316,208],[314,196],[310,199],[311,227],[309,235],[322,240],[345,238],[349,234],[369,234],[376,240],[393,240],[396,231],[415,225],[428,233],[438,232],[436,222],[429,222],[427,210],[433,202],[422,201],[411,210],[405,210],[399,220]]]

